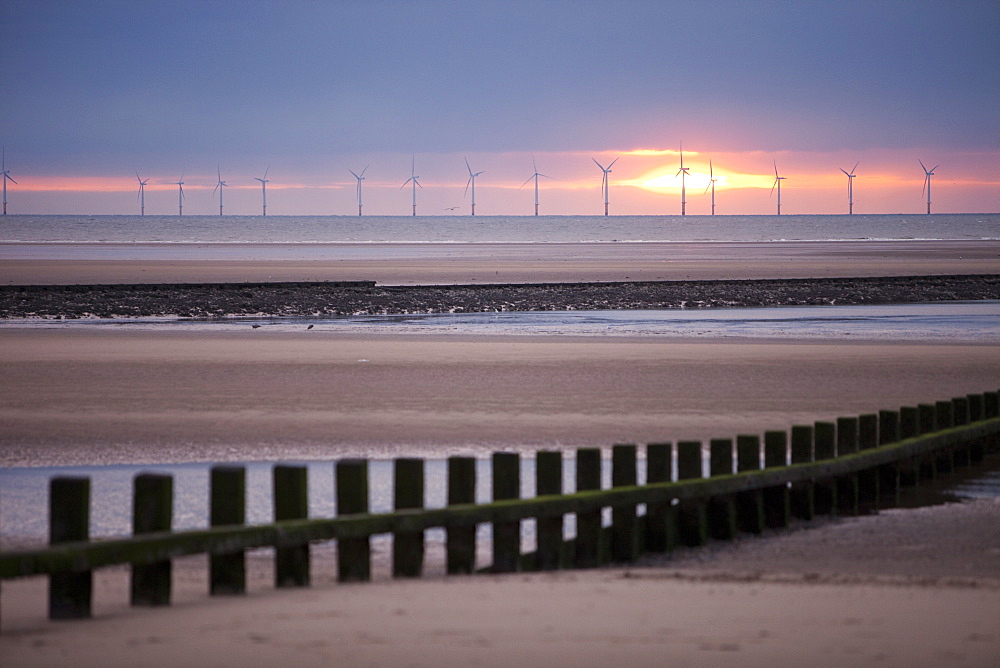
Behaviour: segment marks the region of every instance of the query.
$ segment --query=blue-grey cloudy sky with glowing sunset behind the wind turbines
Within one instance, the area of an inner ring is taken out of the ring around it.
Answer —
[[[8,212],[1000,211],[995,0],[3,0]]]

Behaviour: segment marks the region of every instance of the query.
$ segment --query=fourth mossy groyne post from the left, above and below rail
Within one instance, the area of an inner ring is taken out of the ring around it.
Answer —
[[[305,466],[278,464],[274,467],[274,521],[300,520],[309,515],[309,483]],[[274,550],[274,586],[309,586],[309,545]]]

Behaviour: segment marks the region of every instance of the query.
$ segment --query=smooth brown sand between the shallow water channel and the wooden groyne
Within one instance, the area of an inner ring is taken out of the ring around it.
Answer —
[[[998,386],[995,345],[0,329],[0,465],[707,439]]]

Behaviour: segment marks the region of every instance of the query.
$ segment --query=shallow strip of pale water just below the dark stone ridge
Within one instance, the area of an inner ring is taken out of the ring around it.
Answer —
[[[117,318],[0,320],[0,328],[114,328],[482,336],[704,337],[838,341],[949,341],[1000,345],[1000,301],[653,309],[425,313],[339,317],[246,317],[218,320]]]

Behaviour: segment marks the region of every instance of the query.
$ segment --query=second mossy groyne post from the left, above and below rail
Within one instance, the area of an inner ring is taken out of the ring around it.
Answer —
[[[173,520],[174,479],[140,473],[132,496],[132,533],[170,531]],[[170,560],[132,564],[132,605],[170,605]]]

